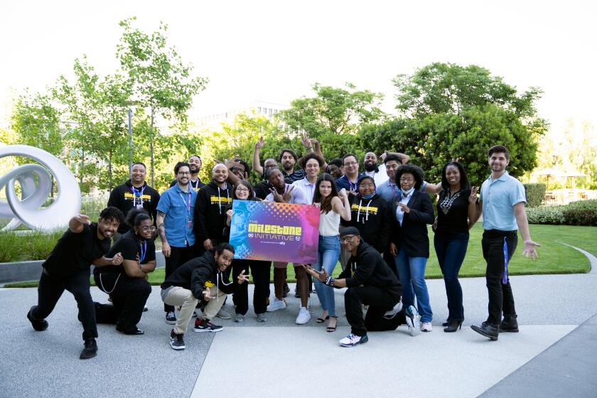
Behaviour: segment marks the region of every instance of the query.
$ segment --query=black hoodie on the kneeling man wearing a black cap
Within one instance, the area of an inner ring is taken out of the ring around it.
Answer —
[[[346,279],[346,287],[375,286],[391,291],[402,296],[402,285],[396,274],[389,266],[380,252],[365,242],[360,242],[357,255],[348,260],[348,267],[338,276]]]

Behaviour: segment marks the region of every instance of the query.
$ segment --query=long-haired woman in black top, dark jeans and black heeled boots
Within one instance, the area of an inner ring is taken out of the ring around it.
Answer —
[[[452,161],[441,169],[441,192],[437,200],[434,245],[448,296],[448,319],[444,332],[456,332],[464,321],[462,288],[458,281],[468,230],[475,224],[477,189],[470,188],[461,163]]]

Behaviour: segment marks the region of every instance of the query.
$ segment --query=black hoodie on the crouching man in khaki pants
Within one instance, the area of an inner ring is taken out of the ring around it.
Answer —
[[[235,293],[240,288],[240,284],[235,281],[229,281],[230,272],[228,269],[224,272],[220,271],[215,262],[215,251],[208,250],[203,256],[198,257],[197,267],[193,270],[190,276],[190,291],[193,296],[203,300],[203,291],[217,286],[217,289],[225,294]],[[188,263],[185,263],[188,264]],[[166,283],[164,281],[164,283]],[[247,282],[244,282],[247,283]],[[163,286],[163,285],[162,285]]]

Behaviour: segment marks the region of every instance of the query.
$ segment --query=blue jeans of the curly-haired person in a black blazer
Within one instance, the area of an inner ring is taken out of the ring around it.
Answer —
[[[429,304],[429,292],[425,283],[425,267],[427,259],[425,257],[409,257],[404,249],[400,249],[398,255],[394,257],[396,269],[400,282],[402,282],[402,304],[404,308],[414,305],[416,296],[416,306],[421,314],[421,322],[431,322],[434,313],[431,312]]]

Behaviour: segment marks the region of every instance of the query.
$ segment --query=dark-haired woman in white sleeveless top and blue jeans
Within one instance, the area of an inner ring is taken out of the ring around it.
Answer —
[[[317,271],[321,271],[323,268],[328,275],[331,275],[340,258],[340,240],[338,239],[340,217],[350,221],[348,195],[345,189],[340,192],[336,191],[333,177],[328,173],[323,173],[317,178],[313,205],[321,209],[317,264],[313,264],[313,268]],[[317,323],[323,323],[329,319],[326,330],[333,332],[338,324],[333,287],[322,284],[316,278],[313,278],[313,281],[315,281],[317,296],[323,308],[323,313],[317,318]]]

